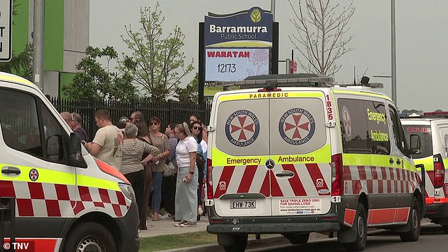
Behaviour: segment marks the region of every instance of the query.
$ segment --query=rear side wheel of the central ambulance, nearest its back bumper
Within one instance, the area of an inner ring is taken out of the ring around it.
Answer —
[[[365,215],[364,205],[358,203],[356,209],[355,222],[353,229],[356,232],[356,240],[350,244],[346,244],[347,251],[363,251],[367,243],[367,218]]]

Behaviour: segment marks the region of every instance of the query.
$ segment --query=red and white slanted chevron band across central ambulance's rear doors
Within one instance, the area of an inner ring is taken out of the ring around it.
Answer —
[[[290,179],[277,179],[275,173],[282,170],[294,173]],[[213,167],[214,198],[225,193],[261,193],[266,197],[283,196],[329,196],[331,167],[329,163],[282,164],[273,170],[264,165],[244,167]],[[324,174],[326,176],[324,176]],[[323,194],[319,194],[321,191]]]

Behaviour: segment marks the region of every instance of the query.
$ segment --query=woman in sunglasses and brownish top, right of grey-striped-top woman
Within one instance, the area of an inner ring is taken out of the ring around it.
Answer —
[[[151,143],[160,150],[160,154],[153,158],[151,169],[153,170],[153,220],[159,220],[160,201],[162,200],[162,181],[165,171],[165,158],[170,156],[170,145],[167,135],[160,132],[160,119],[151,117],[148,122],[149,137]]]

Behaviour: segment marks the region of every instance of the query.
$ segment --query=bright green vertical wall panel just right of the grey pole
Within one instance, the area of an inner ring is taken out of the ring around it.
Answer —
[[[64,69],[64,1],[45,1],[44,69]]]

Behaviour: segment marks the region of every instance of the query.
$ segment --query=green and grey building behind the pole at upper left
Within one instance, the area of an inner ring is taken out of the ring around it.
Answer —
[[[33,43],[34,0],[14,0],[13,54]],[[89,44],[90,0],[46,0],[44,24],[44,85],[46,95],[61,96],[73,80],[76,64]]]

